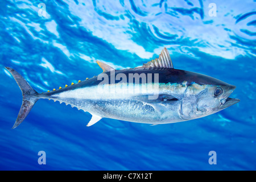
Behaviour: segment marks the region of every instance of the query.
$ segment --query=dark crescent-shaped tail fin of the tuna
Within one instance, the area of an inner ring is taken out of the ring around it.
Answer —
[[[11,73],[11,75],[13,75],[17,84],[19,85],[20,90],[22,90],[23,96],[22,106],[20,107],[18,117],[13,125],[13,129],[15,129],[15,127],[19,126],[20,123],[24,121],[39,98],[35,97],[38,95],[38,92],[36,92],[18,72],[16,72],[13,68],[5,68]]]

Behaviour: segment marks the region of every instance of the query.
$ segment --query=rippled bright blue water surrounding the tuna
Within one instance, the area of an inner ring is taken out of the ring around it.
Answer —
[[[256,169],[255,0],[4,0],[0,19],[0,169]],[[175,68],[236,85],[232,97],[241,102],[187,122],[104,118],[86,127],[89,113],[39,100],[11,129],[22,94],[5,66],[46,92],[98,75],[96,60],[134,68],[164,47]],[[39,151],[46,152],[46,165],[38,164]],[[216,151],[217,164],[208,163],[209,151]]]

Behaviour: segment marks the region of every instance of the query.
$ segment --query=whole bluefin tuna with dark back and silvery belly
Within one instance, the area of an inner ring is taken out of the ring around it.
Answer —
[[[216,113],[239,102],[229,95],[236,88],[199,73],[174,69],[164,48],[142,67],[115,70],[97,61],[98,76],[77,84],[38,93],[14,69],[6,67],[22,90],[23,102],[13,129],[20,125],[40,98],[64,102],[92,114],[87,126],[101,118],[151,125],[189,121]]]

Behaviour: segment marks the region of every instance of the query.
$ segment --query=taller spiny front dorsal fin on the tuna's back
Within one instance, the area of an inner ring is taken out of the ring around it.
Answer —
[[[159,57],[143,64],[143,68],[174,68],[167,48],[164,48]]]

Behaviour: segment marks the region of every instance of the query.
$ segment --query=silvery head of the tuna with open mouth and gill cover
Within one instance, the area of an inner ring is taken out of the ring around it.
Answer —
[[[205,117],[240,102],[238,98],[229,97],[234,89],[236,89],[234,85],[200,75],[197,83],[188,84],[185,91],[181,107],[183,118]]]

